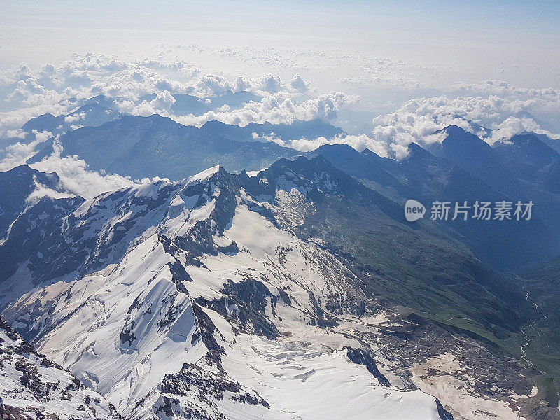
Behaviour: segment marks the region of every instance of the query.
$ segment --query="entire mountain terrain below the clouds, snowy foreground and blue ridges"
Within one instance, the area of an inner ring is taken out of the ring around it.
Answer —
[[[0,173],[4,418],[560,419],[552,139],[449,126],[393,160],[255,141],[342,132],[319,120],[80,106],[27,123],[57,137]],[[166,178],[86,200],[33,169],[52,153]],[[407,222],[408,198],[535,206]]]

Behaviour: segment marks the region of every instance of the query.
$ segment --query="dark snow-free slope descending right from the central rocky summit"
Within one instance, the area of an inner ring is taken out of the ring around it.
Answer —
[[[317,174],[322,174],[321,178]],[[302,181],[296,183],[298,179]],[[307,195],[311,203],[303,199],[284,201],[283,191],[290,187]],[[491,322],[511,331],[517,328],[517,316],[508,308],[509,304],[500,302],[496,295],[491,297],[485,290],[503,293],[500,290],[505,288],[507,279],[486,269],[458,241],[445,237],[437,223],[407,223],[402,207],[365,188],[323,158],[279,160],[250,179],[246,190],[256,197],[276,196],[281,209],[278,216],[286,228],[364,269],[372,287],[367,293],[390,296],[393,302],[416,310],[429,307],[432,316],[444,316],[449,310],[457,315],[455,311],[461,307],[470,308],[468,316],[462,314],[459,318],[478,319],[486,327]],[[279,193],[274,194],[275,190]],[[407,275],[409,281],[403,281]],[[445,300],[434,298],[440,293],[449,296],[453,309],[447,308]],[[477,303],[473,295],[482,297],[481,302]],[[511,298],[521,300],[519,295]],[[487,299],[493,303],[488,305]],[[485,317],[488,318],[484,320]]]

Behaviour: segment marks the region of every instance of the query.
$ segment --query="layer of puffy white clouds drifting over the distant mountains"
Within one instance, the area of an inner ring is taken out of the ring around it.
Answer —
[[[182,48],[193,51],[199,47],[179,46],[169,51]],[[203,71],[185,59],[169,59],[169,53],[153,59],[130,60],[94,53],[74,54],[60,64],[45,64],[38,69],[20,64],[0,71],[0,94],[5,97],[0,101],[0,145],[4,145],[0,150],[0,170],[21,165],[36,153],[38,146],[56,137],[56,132],[23,132],[22,125],[30,118],[43,113],[68,115],[85,99],[97,95],[104,96],[106,106],[123,114],[158,113],[199,127],[209,120],[244,126],[321,119],[336,125],[341,110],[357,111],[344,114],[356,118],[362,115],[360,111],[372,112],[356,94],[340,90],[320,92],[311,85],[300,74],[309,71],[312,63],[326,69],[328,63],[336,62],[341,69],[352,69],[353,72],[339,78],[340,86],[358,86],[364,90],[393,86],[407,92],[408,97],[404,102],[384,104],[392,110],[365,122],[372,127],[371,131],[288,142],[272,134],[260,141],[274,141],[299,151],[345,143],[358,151],[370,148],[382,156],[402,158],[412,142],[441,141],[435,133],[451,124],[477,134],[490,144],[524,131],[542,132],[560,139],[558,89],[528,89],[501,80],[486,80],[474,84],[453,83],[447,90],[428,90],[429,86],[420,79],[442,69],[372,58],[357,52],[293,51],[291,58],[274,49],[222,49],[207,53],[236,59],[248,67],[258,57],[259,66],[282,69],[284,74],[288,69],[290,76],[281,78],[265,73],[248,77]],[[178,106],[179,98],[191,105]],[[82,114],[73,114],[64,123],[75,129],[85,124],[83,118]],[[92,197],[133,183],[117,174],[93,172],[79,157],[60,158],[59,152],[55,148],[55,153],[34,167],[57,172],[72,193]]]

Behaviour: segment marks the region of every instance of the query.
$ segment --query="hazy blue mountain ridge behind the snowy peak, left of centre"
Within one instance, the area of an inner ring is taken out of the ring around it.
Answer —
[[[238,172],[258,170],[299,154],[274,143],[231,140],[212,125],[199,129],[158,115],[124,116],[100,127],[83,127],[64,134],[60,143],[63,155],[78,155],[92,169],[133,179],[164,176],[179,180],[214,165]],[[45,148],[31,162],[50,153]]]

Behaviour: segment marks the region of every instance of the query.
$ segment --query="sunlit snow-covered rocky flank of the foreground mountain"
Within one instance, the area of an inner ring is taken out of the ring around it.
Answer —
[[[343,292],[335,286],[336,277],[323,274],[329,266],[344,269],[328,253],[290,239],[287,232],[276,230],[266,218],[248,209],[258,204],[238,206],[237,200],[250,199],[234,181],[235,177],[223,169],[214,169],[185,183],[160,182],[84,202],[72,215],[83,221],[97,220],[91,233],[97,236],[98,244],[119,232],[119,219],[130,217],[126,209],[131,207],[146,207],[143,220],[149,218],[153,227],[143,225],[132,243],[123,238],[123,245],[134,245],[124,256],[101,258],[102,265],[94,269],[97,271],[77,278],[72,272],[57,283],[43,281],[43,291],[26,294],[6,309],[6,316],[39,342],[43,351],[56,353],[59,363],[108,395],[125,416],[133,418],[174,412],[209,419],[224,415],[260,418],[266,413],[267,418],[283,419],[291,418],[287,412],[294,409],[302,418],[309,418],[311,413],[305,414],[302,400],[279,399],[262,388],[260,381],[250,380],[254,376],[248,373],[252,372],[250,366],[269,375],[265,381],[269,384],[279,381],[280,385],[290,374],[290,389],[297,391],[297,384],[301,384],[299,393],[307,385],[307,393],[320,391],[327,386],[326,379],[337,377],[340,398],[363,395],[361,387],[352,386],[340,374],[353,372],[363,378],[360,383],[367,388],[370,372],[359,365],[351,368],[352,362],[342,349],[325,353],[321,346],[311,346],[305,352],[308,356],[293,355],[293,363],[306,363],[307,370],[292,374],[290,365],[279,365],[277,374],[271,373],[274,370],[267,360],[289,346],[290,340],[284,343],[281,339],[283,331],[293,330],[290,325],[299,324],[303,316],[309,320],[302,324],[304,329],[314,330],[320,337],[321,328],[313,325],[323,319],[316,315],[324,310],[321,301],[332,300],[329,290],[345,295],[350,290]],[[63,220],[66,224],[70,218]],[[248,225],[262,230],[259,236],[267,241],[255,243],[253,235],[259,232],[252,235],[246,230]],[[65,229],[73,230],[72,224]],[[52,230],[59,230],[58,225]],[[10,239],[13,237],[8,242]],[[290,241],[293,244],[280,254],[283,257],[276,256],[281,259],[274,263],[270,257]],[[293,247],[294,251],[289,251]],[[72,248],[67,246],[64,255],[70,255]],[[48,249],[44,252],[46,258]],[[282,264],[293,265],[293,269],[286,272]],[[84,265],[87,267],[87,261]],[[29,269],[34,276],[36,269],[27,266]],[[18,273],[3,286],[10,288],[15,281],[22,281]],[[253,286],[248,287],[250,284]],[[50,298],[39,299],[43,293]],[[62,297],[64,307],[55,309],[55,302]],[[230,303],[224,306],[225,301]],[[52,316],[47,320],[41,313]],[[29,318],[29,314],[34,316]],[[302,332],[304,335],[307,332]],[[239,360],[244,360],[241,355],[250,343],[257,351],[253,351],[253,361],[241,369]],[[315,372],[322,373],[311,379]],[[387,393],[393,395],[393,404],[383,397]],[[389,412],[402,407],[397,418],[413,418],[419,410],[426,413],[426,419],[437,418],[433,397],[419,392],[408,397],[400,391],[374,387],[360,398],[363,402],[353,407],[356,415],[382,406]],[[409,402],[402,402],[403,398]],[[320,407],[313,407],[313,411],[317,413]],[[332,405],[323,408],[334,409]]]

